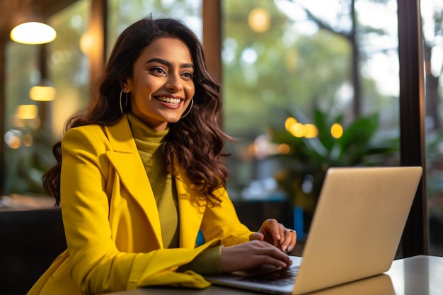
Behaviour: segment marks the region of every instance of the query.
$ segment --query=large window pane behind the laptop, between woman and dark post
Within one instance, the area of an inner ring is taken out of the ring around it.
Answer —
[[[326,168],[399,161],[397,2],[351,2],[222,1],[231,197],[287,199],[304,231]]]

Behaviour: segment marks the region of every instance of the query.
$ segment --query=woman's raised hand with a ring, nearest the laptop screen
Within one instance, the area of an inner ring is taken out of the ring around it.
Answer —
[[[294,250],[297,241],[297,233],[293,229],[287,229],[275,219],[266,219],[257,233],[249,236],[249,241],[260,240],[275,245],[283,252]]]

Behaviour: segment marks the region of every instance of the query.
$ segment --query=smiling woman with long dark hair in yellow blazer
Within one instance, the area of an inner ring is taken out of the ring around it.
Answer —
[[[250,231],[226,193],[220,108],[189,28],[151,18],[127,28],[96,99],[54,146],[43,185],[62,207],[68,249],[28,294],[204,288],[202,274],[288,267],[295,232],[275,219]]]

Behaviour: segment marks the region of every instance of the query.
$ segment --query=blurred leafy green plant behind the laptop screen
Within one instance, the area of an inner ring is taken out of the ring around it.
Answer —
[[[317,137],[294,137],[286,129],[271,132],[272,141],[289,146],[287,154],[272,156],[279,159],[281,166],[275,175],[277,183],[287,192],[294,206],[303,207],[305,212],[312,213],[315,209],[329,167],[386,166],[398,152],[398,137],[375,140],[379,127],[376,113],[357,117],[347,125],[343,121],[343,114],[333,117],[315,108],[313,124],[318,129]],[[343,126],[343,135],[338,139],[330,134],[334,123]]]

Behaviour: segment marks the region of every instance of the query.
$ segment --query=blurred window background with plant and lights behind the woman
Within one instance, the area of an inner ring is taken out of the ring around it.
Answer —
[[[424,226],[429,254],[443,255],[443,3],[409,3],[420,7],[413,21],[422,37],[423,96],[416,98],[422,112],[411,120],[422,122],[417,128],[426,168],[420,205],[425,221],[416,226]],[[263,215],[294,221],[304,238],[328,167],[404,164],[401,5],[401,0],[2,0],[1,195],[44,195],[41,176],[54,164],[52,145],[62,138],[67,118],[90,99],[117,35],[149,14],[168,16],[201,38],[222,82],[220,123],[238,140],[226,146],[228,190],[242,218],[251,219],[247,212],[258,206]],[[42,45],[11,40],[15,25],[35,20],[51,25],[57,37]]]

